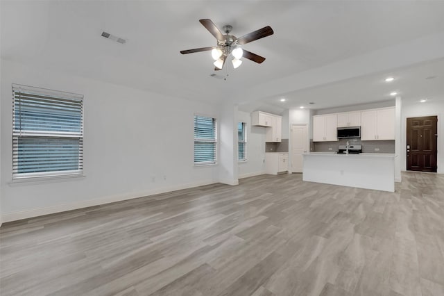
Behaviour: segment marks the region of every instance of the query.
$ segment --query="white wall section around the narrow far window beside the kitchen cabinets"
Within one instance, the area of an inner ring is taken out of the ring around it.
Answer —
[[[247,161],[238,163],[239,178],[265,174],[266,128],[251,126],[250,113],[239,111],[237,119],[247,124]]]

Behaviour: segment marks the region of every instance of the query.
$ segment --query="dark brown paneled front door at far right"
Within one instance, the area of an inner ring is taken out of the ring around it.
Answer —
[[[407,118],[407,170],[436,172],[438,117]]]

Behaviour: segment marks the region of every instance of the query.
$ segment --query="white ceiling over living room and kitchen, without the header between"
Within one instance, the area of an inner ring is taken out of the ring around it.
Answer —
[[[268,81],[442,33],[443,15],[444,1],[3,0],[1,58],[187,99],[221,102],[232,97],[242,104],[249,89]],[[236,70],[228,64],[218,72],[228,74],[227,81],[210,77],[214,67],[209,52],[179,53],[216,44],[198,22],[202,18],[219,28],[232,24],[237,37],[271,26],[274,35],[244,46],[266,57],[265,62],[244,60]],[[102,38],[102,31],[128,42]],[[444,85],[444,74],[427,81],[434,84],[431,94],[422,92],[426,82],[416,85],[429,72],[442,73],[442,60],[393,70],[403,77],[393,87],[411,98],[444,94],[436,86],[438,81]],[[316,101],[315,108],[331,108],[381,101],[392,87],[379,83],[382,74],[295,89],[284,94],[289,99],[285,106]],[[282,106],[277,104],[282,91],[270,92],[275,96],[250,98],[248,104]]]

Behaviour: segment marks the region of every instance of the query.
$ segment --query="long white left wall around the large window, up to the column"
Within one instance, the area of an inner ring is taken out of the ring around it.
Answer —
[[[12,83],[84,94],[84,178],[10,183]],[[220,165],[194,167],[195,113],[221,121],[216,106],[2,60],[3,221],[219,181]]]

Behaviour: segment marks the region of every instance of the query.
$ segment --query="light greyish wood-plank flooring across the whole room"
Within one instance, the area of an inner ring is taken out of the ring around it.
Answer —
[[[444,175],[256,176],[4,224],[0,295],[444,295]]]

